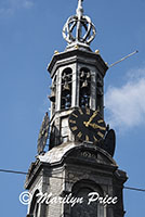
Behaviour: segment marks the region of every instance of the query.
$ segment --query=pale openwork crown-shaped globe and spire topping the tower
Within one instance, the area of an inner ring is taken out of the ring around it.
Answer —
[[[67,48],[74,44],[89,47],[95,38],[95,26],[89,16],[83,15],[82,1],[78,0],[76,15],[70,16],[63,28],[63,37],[68,43]]]

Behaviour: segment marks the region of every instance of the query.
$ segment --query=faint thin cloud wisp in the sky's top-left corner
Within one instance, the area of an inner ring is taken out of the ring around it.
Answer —
[[[30,9],[32,5],[34,0],[1,0],[0,15],[12,15],[18,9]]]

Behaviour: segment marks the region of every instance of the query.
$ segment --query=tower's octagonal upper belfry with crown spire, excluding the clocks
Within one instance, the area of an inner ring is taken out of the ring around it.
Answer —
[[[82,33],[85,30],[85,34]],[[83,15],[78,1],[76,15],[63,28],[67,41],[65,52],[55,52],[48,71],[51,74],[51,142],[50,149],[66,141],[75,141],[68,127],[68,116],[75,107],[90,107],[104,113],[104,76],[107,65],[90,43],[96,34],[90,17]]]

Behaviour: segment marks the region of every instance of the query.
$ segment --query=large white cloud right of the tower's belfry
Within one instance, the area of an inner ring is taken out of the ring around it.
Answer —
[[[132,69],[127,82],[109,87],[105,94],[106,119],[111,127],[133,128],[145,119],[145,68]]]

